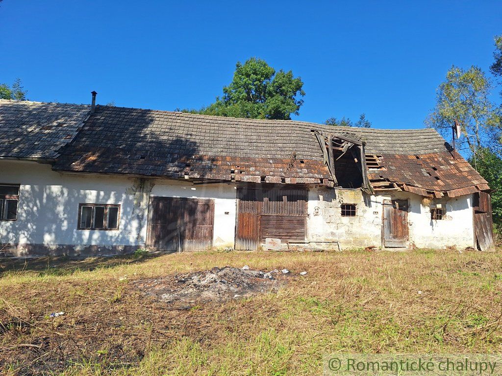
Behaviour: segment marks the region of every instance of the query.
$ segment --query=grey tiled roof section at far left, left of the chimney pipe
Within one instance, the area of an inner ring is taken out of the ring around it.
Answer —
[[[89,117],[90,106],[0,99],[0,156],[59,156]]]

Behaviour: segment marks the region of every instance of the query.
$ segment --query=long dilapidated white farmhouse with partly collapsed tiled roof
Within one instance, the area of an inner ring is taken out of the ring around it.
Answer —
[[[493,247],[486,181],[433,129],[94,102],[0,101],[3,252]]]

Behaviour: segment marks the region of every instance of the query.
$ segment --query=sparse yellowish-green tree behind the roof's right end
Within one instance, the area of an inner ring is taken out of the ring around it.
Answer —
[[[464,70],[452,66],[437,89],[436,106],[426,124],[450,139],[457,119],[464,136],[457,141],[459,149],[468,147],[474,152],[476,148],[492,146],[500,120],[496,106],[490,101],[492,88],[491,81],[478,67]]]

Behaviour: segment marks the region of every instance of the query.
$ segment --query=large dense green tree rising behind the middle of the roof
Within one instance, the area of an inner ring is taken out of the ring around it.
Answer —
[[[200,110],[186,112],[252,119],[291,119],[298,115],[305,95],[300,77],[292,71],[277,71],[262,59],[237,62],[232,82],[223,95]]]

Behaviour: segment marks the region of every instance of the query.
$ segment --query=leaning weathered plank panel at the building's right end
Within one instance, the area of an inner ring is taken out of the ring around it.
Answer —
[[[485,192],[473,195],[474,241],[480,251],[493,251],[493,220],[491,217],[491,197]]]

